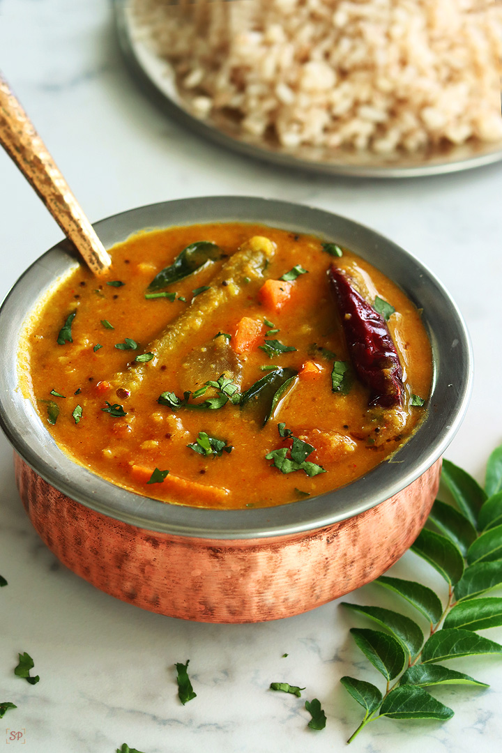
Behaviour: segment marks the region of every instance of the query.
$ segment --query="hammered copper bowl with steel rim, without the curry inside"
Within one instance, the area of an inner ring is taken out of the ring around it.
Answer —
[[[394,456],[342,489],[275,508],[212,511],[170,505],[103,480],[65,456],[18,388],[26,312],[76,264],[67,242],[21,276],[0,309],[0,421],[35,529],[71,570],[118,599],[201,622],[289,617],[377,578],[412,544],[437,492],[440,458],[470,397],[472,353],[452,298],[419,261],[373,230],[308,206],[249,197],[187,199],[96,223],[109,248],[131,233],[249,221],[312,233],[351,248],[416,306],[434,355],[418,431]]]

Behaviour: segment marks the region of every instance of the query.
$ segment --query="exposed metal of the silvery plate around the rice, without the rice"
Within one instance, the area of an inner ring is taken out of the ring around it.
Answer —
[[[390,157],[381,157],[368,151],[339,149],[334,152],[326,148],[306,146],[292,150],[278,143],[264,143],[263,139],[240,133],[236,123],[224,115],[200,120],[188,111],[179,96],[172,67],[154,53],[145,40],[145,32],[141,33],[135,26],[127,0],[114,0],[114,12],[120,47],[126,64],[141,89],[175,120],[200,136],[248,157],[313,172],[361,178],[442,175],[502,160],[502,142],[473,141],[461,146],[431,148],[414,155],[396,153]]]

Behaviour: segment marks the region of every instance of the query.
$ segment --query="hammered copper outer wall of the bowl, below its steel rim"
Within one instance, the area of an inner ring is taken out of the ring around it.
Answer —
[[[14,455],[23,505],[47,547],[93,586],[184,620],[291,617],[373,581],[415,541],[434,503],[438,460],[406,489],[322,529],[217,540],[148,531],[99,514]]]

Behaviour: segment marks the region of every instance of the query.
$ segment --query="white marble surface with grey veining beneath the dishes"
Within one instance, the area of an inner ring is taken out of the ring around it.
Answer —
[[[431,266],[467,319],[476,356],[473,400],[448,456],[482,480],[502,441],[500,237],[502,166],[463,175],[379,182],[303,175],[227,153],[183,133],[142,96],[123,69],[105,0],[0,0],[0,64],[91,220],[132,206],[202,194],[249,194],[311,203],[375,227]],[[0,293],[60,238],[14,165],[0,154]],[[17,703],[0,723],[26,729],[26,751],[270,753],[341,750],[359,707],[340,676],[380,684],[348,628],[366,626],[337,602],[275,623],[183,623],[95,590],[39,541],[14,486],[0,437],[0,697]],[[437,584],[407,554],[395,566]],[[377,587],[350,599],[387,605]],[[486,636],[502,640],[502,630]],[[41,681],[14,677],[17,651]],[[281,655],[288,653],[286,659]],[[173,663],[190,658],[196,700],[181,706]],[[500,659],[450,663],[487,691],[440,688],[455,709],[446,724],[380,720],[352,747],[365,753],[502,750]],[[307,729],[303,700],[267,691],[270,681],[306,685],[327,727]],[[11,742],[20,745],[21,741]]]

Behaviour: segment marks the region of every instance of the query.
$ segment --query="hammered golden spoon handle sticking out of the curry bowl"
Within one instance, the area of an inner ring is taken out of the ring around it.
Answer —
[[[75,244],[91,272],[105,274],[111,258],[1,73],[0,144]]]

